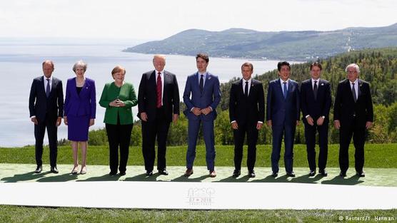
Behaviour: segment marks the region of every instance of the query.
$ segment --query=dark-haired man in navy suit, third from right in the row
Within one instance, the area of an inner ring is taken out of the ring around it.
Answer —
[[[280,78],[268,83],[266,122],[273,131],[273,147],[271,150],[272,176],[278,175],[278,160],[280,160],[281,141],[284,135],[284,165],[286,175],[295,177],[293,172],[293,138],[296,125],[299,124],[299,86],[289,79],[291,66],[288,62],[278,62]]]

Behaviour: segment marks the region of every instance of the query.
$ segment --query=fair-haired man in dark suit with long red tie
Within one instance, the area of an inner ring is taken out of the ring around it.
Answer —
[[[171,121],[179,116],[179,88],[176,76],[164,71],[166,57],[155,55],[154,71],[142,75],[138,93],[138,117],[142,120],[142,152],[146,175],[153,175],[154,145],[157,138],[157,170],[168,175],[166,170],[166,139]]]

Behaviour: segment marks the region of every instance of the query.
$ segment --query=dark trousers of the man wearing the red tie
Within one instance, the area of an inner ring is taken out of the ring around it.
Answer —
[[[157,138],[157,170],[166,169],[166,140],[170,122],[166,120],[164,107],[156,109],[156,119],[152,122],[142,121],[142,154],[144,155],[145,170],[152,171],[156,158]]]

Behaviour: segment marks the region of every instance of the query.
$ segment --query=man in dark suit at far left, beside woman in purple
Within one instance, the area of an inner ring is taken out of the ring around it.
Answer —
[[[54,63],[44,61],[42,64],[44,76],[34,78],[31,83],[29,95],[29,113],[34,123],[34,138],[36,138],[36,173],[43,170],[43,140],[47,129],[49,136],[50,165],[51,172],[58,173],[56,168],[56,155],[58,147],[57,128],[61,125],[64,116],[64,91],[62,82],[54,78]]]

